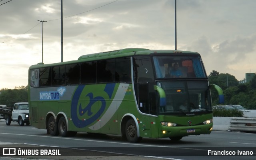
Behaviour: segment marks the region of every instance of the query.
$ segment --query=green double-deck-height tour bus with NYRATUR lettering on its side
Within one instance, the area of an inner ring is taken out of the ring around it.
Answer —
[[[197,52],[126,48],[38,63],[28,71],[30,124],[52,136],[115,134],[129,142],[210,134],[210,87]]]

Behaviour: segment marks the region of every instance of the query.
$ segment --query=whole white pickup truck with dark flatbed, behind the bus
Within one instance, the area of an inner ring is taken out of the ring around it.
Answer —
[[[0,108],[0,114],[4,115],[6,120],[6,125],[10,125],[11,122],[18,122],[20,126],[27,126],[29,123],[29,112],[28,112],[28,102],[18,102],[15,103],[13,108]]]

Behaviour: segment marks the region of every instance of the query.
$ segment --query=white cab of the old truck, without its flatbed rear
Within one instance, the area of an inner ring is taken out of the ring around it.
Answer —
[[[12,110],[12,121],[18,122],[20,126],[29,125],[28,102],[15,103]]]

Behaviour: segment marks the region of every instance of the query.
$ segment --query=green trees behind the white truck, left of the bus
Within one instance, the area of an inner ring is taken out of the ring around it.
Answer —
[[[0,104],[12,107],[16,102],[28,102],[28,86],[15,87],[15,89],[3,88],[0,90]]]

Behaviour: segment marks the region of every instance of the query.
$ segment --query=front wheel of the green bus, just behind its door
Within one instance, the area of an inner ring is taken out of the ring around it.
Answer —
[[[137,135],[137,127],[133,119],[129,119],[126,122],[125,134],[127,140],[132,143],[140,142],[140,140],[142,139],[142,137],[138,137]]]

